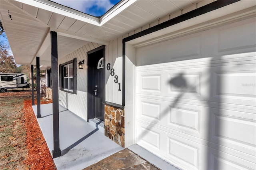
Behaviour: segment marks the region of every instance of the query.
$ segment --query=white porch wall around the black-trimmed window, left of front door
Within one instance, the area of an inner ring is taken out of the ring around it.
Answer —
[[[58,60],[58,65],[76,58],[76,94],[59,90],[59,104],[75,113],[82,119],[87,120],[87,68],[86,53],[101,46],[98,43],[88,43]],[[84,59],[84,69],[78,69],[79,60]]]

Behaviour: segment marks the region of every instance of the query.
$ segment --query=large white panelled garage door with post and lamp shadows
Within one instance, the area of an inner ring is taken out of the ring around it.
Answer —
[[[256,168],[255,20],[137,49],[137,144],[180,168]]]

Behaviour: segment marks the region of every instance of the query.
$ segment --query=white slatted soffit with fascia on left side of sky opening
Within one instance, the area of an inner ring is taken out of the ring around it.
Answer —
[[[110,40],[103,30],[100,29],[99,23],[95,24],[88,21],[91,19],[99,19],[82,12],[72,10],[71,8],[67,8],[50,1],[8,0],[7,2],[16,6],[16,8],[20,9],[22,12],[34,18],[38,22],[52,28],[51,30],[58,29],[58,31],[60,30],[61,32],[65,32],[65,34],[77,34],[76,37],[82,37],[84,39],[87,38],[88,41],[95,43],[107,44]],[[42,6],[40,4],[42,4]],[[56,6],[56,8],[54,8],[54,6]],[[63,9],[61,9],[62,7]],[[89,17],[89,19],[80,20],[81,15],[82,17],[86,16],[87,19]]]

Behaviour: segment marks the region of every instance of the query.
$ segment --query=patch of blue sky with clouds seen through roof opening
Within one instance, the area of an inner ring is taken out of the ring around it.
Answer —
[[[102,16],[120,0],[52,0],[92,16]]]

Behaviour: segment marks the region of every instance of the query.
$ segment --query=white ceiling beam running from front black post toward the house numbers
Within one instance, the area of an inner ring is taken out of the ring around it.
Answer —
[[[106,41],[106,40],[91,38],[91,37],[88,37],[88,36],[84,36],[82,34],[76,34],[76,33],[68,32],[68,31],[65,31],[65,30],[58,29],[58,28],[51,28],[50,31],[55,31],[60,36],[75,38],[75,39],[84,40],[84,41],[87,41],[87,42],[100,43],[100,44],[104,44],[104,45],[109,44],[109,41]]]

